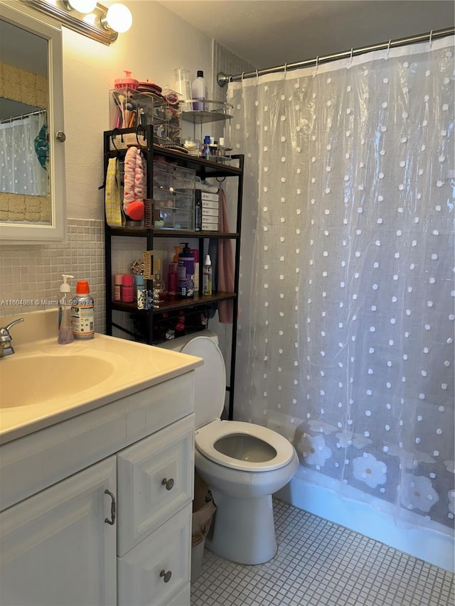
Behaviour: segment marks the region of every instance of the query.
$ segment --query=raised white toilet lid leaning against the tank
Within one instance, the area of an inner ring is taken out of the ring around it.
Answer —
[[[220,418],[226,395],[226,369],[223,354],[210,337],[195,337],[181,350],[183,354],[203,358],[195,369],[194,412],[196,428]]]

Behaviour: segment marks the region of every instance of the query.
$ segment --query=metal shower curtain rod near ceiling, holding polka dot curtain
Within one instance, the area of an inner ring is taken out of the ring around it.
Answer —
[[[228,82],[238,82],[245,78],[259,77],[264,74],[274,74],[276,72],[284,72],[289,70],[297,70],[299,67],[310,67],[320,63],[328,63],[329,61],[336,61],[337,59],[346,59],[349,57],[355,57],[357,55],[363,55],[364,53],[370,53],[373,50],[385,50],[387,48],[397,48],[397,46],[405,46],[407,44],[414,44],[418,42],[427,42],[436,40],[437,38],[444,38],[444,36],[451,36],[455,33],[455,28],[439,29],[435,31],[429,31],[428,33],[421,33],[419,36],[411,36],[410,38],[400,38],[397,40],[389,40],[388,42],[382,42],[373,46],[364,46],[363,48],[351,48],[343,53],[336,53],[336,55],[326,55],[324,57],[316,57],[314,59],[308,59],[306,61],[299,61],[299,63],[286,63],[277,67],[267,67],[263,70],[255,70],[254,72],[242,72],[241,74],[227,75],[223,72],[218,73],[218,86],[223,87]]]

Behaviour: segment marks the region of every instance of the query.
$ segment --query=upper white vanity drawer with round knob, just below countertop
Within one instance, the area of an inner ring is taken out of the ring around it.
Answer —
[[[192,501],[193,475],[193,414],[117,453],[117,556]]]

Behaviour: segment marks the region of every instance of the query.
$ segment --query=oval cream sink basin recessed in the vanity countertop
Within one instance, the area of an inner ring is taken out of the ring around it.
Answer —
[[[0,363],[0,408],[29,406],[73,396],[111,377],[114,366],[100,357],[13,355]]]

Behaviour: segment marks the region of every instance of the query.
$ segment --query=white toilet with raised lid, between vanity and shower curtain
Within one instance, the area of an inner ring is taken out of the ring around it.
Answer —
[[[215,333],[204,330],[162,346],[204,359],[195,371],[195,465],[217,506],[205,545],[238,563],[267,562],[277,552],[272,494],[299,467],[296,451],[276,431],[220,420],[226,374]]]

